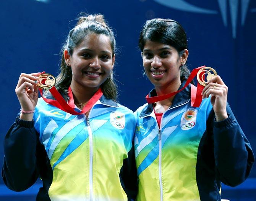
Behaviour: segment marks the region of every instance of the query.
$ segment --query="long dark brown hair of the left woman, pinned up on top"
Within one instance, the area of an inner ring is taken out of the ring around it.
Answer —
[[[72,55],[74,48],[79,46],[86,35],[96,33],[104,34],[109,37],[110,45],[112,48],[112,54],[115,54],[116,41],[114,33],[110,27],[106,24],[104,16],[101,14],[86,15],[79,18],[76,26],[68,33],[66,43],[62,48],[62,59],[60,63],[60,73],[56,77],[56,89],[62,94],[65,100],[68,99],[67,90],[71,84],[72,72],[71,68],[66,65],[64,58],[64,50],[68,50],[68,54]],[[104,96],[108,99],[116,101],[117,99],[117,85],[113,80],[113,71],[110,73],[107,80],[100,86]]]

